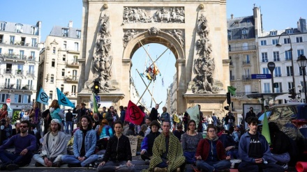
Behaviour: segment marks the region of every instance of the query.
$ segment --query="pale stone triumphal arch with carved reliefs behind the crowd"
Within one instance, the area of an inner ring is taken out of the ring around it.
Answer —
[[[89,102],[99,81],[103,102],[126,106],[134,52],[159,42],[176,57],[178,112],[195,104],[223,111],[230,80],[225,0],[83,0],[82,22],[80,102]]]

